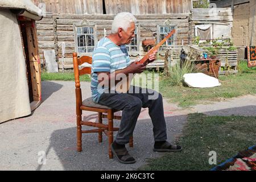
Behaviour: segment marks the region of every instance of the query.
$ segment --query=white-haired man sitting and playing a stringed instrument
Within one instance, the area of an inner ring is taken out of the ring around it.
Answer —
[[[136,18],[131,13],[119,13],[112,24],[112,34],[102,38],[93,52],[92,63],[92,98],[93,101],[122,110],[122,119],[119,131],[112,144],[112,151],[119,162],[125,164],[135,163],[136,160],[129,155],[125,144],[133,135],[141,108],[148,107],[149,115],[153,123],[154,151],[172,152],[180,151],[181,147],[168,143],[166,121],[164,120],[163,100],[161,94],[154,90],[130,87],[127,93],[109,92],[111,80],[118,83],[117,73],[129,75],[129,73],[142,73],[146,64],[155,60],[152,53],[145,64],[131,63],[125,44],[129,44],[134,38]],[[102,84],[104,83],[104,84]],[[137,90],[139,92],[130,92]],[[150,99],[150,95],[158,95],[158,98]]]

